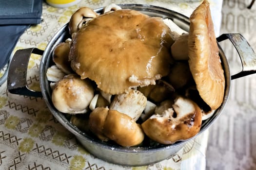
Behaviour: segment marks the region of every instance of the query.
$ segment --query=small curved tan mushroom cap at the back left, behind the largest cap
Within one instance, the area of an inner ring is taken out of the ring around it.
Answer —
[[[68,28],[69,33],[72,35],[73,33],[78,32],[80,23],[84,22],[84,18],[94,18],[97,17],[98,14],[94,12],[91,8],[82,7],[79,8],[70,18]]]

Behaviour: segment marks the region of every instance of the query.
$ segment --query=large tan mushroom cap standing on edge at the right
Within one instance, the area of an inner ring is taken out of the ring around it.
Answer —
[[[190,16],[189,67],[201,98],[212,109],[223,101],[225,78],[209,2],[204,0]]]

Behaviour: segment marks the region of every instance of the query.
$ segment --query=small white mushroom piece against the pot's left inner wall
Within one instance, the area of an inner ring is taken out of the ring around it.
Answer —
[[[66,73],[64,73],[62,70],[60,70],[56,65],[51,66],[46,71],[47,80],[51,81],[51,82],[58,82],[65,75],[66,75]]]

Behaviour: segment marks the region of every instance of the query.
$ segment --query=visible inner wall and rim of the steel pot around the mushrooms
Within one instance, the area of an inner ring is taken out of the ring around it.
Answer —
[[[189,18],[186,16],[183,16],[182,14],[179,14],[175,11],[168,10],[165,8],[157,7],[157,6],[152,6],[152,5],[140,5],[140,4],[120,4],[119,5],[121,8],[129,8],[133,10],[140,11],[144,14],[147,14],[149,16],[154,16],[154,17],[162,17],[162,18],[170,18],[172,19],[179,27],[184,29],[185,31],[189,31]],[[101,13],[103,8],[98,8],[95,11],[97,13]],[[51,100],[51,93],[52,90],[50,88],[50,84],[47,80],[46,77],[46,71],[47,68],[51,67],[54,63],[52,61],[52,54],[53,50],[56,47],[57,44],[60,42],[64,42],[67,38],[71,38],[71,35],[69,34],[68,30],[68,24],[65,24],[50,40],[49,44],[47,45],[41,59],[40,63],[40,68],[39,68],[39,82],[40,82],[40,87],[42,90],[42,95],[43,98],[52,112],[52,114],[55,116],[55,118],[71,133],[73,133],[75,136],[79,137],[80,140],[85,140],[90,143],[93,143],[95,145],[98,145],[99,147],[113,150],[115,148],[115,151],[118,152],[130,152],[130,153],[144,153],[144,152],[155,152],[159,150],[167,150],[171,148],[175,148],[181,145],[184,145],[191,139],[195,138],[196,136],[200,135],[202,132],[204,132],[206,129],[208,129],[214,121],[220,116],[222,110],[224,109],[224,106],[228,100],[229,96],[229,91],[230,91],[230,83],[231,83],[231,76],[230,76],[230,70],[229,66],[227,63],[226,56],[219,46],[219,55],[222,61],[222,66],[224,69],[224,75],[225,75],[225,80],[226,80],[226,86],[225,86],[225,94],[224,94],[224,99],[221,104],[221,106],[215,111],[214,115],[210,117],[209,119],[203,120],[200,132],[184,141],[178,141],[172,145],[156,145],[156,146],[139,146],[139,147],[121,147],[118,144],[112,143],[112,142],[102,142],[98,138],[94,137],[93,135],[89,133],[82,132],[79,130],[76,126],[70,123],[69,121],[69,116],[67,114],[60,113],[53,105],[52,100]]]

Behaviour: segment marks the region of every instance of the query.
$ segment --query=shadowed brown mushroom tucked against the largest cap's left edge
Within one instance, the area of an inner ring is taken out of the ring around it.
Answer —
[[[70,61],[68,60],[68,54],[70,51],[69,41],[70,40],[59,43],[53,51],[53,62],[66,74],[70,74],[72,72]]]

